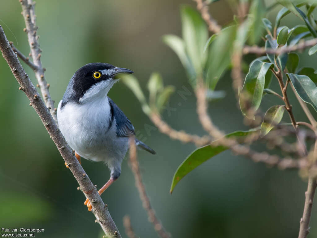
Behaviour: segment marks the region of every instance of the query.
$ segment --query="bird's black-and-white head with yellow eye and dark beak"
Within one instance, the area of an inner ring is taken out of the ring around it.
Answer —
[[[120,74],[133,71],[118,68],[108,63],[89,63],[78,69],[68,83],[63,102],[85,103],[95,98],[107,96]]]

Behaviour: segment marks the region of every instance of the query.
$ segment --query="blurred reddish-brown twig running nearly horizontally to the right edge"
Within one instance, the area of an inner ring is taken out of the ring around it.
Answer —
[[[290,51],[303,50],[307,47],[314,46],[315,44],[317,44],[317,38],[314,38],[308,41],[301,40],[296,45],[290,45],[287,47],[279,47],[277,49],[272,49],[272,48],[265,49],[264,47],[258,47],[258,46],[244,46],[242,52],[245,55],[250,53],[258,54],[258,55],[265,55],[266,53],[280,55],[282,53],[286,53]]]

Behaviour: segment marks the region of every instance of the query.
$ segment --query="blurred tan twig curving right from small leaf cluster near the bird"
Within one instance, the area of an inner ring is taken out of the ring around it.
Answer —
[[[184,131],[177,131],[171,128],[165,121],[162,120],[162,118],[157,113],[153,112],[150,116],[150,119],[152,120],[154,125],[159,128],[160,132],[171,137],[171,139],[179,140],[184,143],[195,143],[197,146],[208,145],[212,141],[210,136],[200,137],[197,135],[188,134]]]

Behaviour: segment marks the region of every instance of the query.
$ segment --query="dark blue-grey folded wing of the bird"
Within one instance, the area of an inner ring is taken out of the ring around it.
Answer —
[[[117,136],[127,137],[135,135],[134,127],[130,120],[124,115],[123,111],[108,97],[110,110],[111,110],[111,122],[113,119],[117,123]]]

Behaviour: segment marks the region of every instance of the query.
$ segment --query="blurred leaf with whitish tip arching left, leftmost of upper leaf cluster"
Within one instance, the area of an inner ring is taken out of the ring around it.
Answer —
[[[193,87],[196,86],[196,73],[189,57],[186,54],[184,41],[175,35],[163,36],[163,42],[168,45],[178,56],[180,62],[183,64],[189,81]]]

